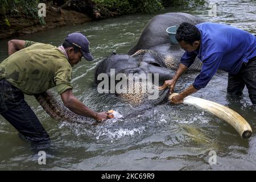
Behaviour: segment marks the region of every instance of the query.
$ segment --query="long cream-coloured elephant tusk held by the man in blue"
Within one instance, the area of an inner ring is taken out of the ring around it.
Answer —
[[[177,93],[172,93],[168,99],[171,100],[171,98],[175,95],[177,95]],[[192,96],[185,97],[183,103],[207,110],[210,113],[216,115],[218,118],[224,119],[231,126],[233,126],[234,129],[237,130],[242,138],[251,137],[252,130],[249,123],[247,123],[245,118],[243,118],[236,111],[229,109],[229,107],[217,104],[216,102],[205,100],[203,98]]]

